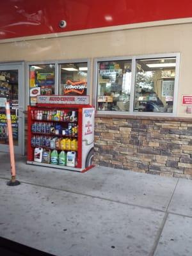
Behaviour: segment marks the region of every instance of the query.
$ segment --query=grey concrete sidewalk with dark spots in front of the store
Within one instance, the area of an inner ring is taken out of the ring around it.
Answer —
[[[192,180],[16,163],[9,187],[0,154],[0,236],[61,256],[192,255]]]

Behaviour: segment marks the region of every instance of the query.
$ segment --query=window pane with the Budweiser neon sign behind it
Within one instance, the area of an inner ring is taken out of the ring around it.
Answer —
[[[60,64],[60,95],[86,95],[87,72],[87,62]]]

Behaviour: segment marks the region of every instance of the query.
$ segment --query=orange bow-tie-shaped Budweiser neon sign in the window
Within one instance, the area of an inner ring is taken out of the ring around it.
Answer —
[[[63,93],[66,95],[68,93],[74,92],[83,95],[85,89],[86,81],[72,82],[70,80],[67,80],[67,83],[63,86]]]

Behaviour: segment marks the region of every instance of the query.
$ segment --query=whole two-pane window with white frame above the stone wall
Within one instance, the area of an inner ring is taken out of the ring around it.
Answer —
[[[93,87],[96,109],[100,114],[173,116],[178,81],[177,53],[97,58]]]

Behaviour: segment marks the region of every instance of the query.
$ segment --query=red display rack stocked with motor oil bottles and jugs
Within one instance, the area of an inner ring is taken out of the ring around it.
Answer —
[[[44,96],[45,97],[45,96]],[[47,96],[48,97],[48,96]],[[92,168],[95,109],[89,104],[37,103],[28,106],[28,164],[85,172]],[[50,99],[52,99],[50,97]],[[49,102],[49,100],[48,100]],[[74,154],[74,164],[43,163],[37,149]]]

